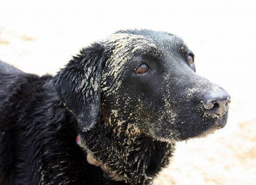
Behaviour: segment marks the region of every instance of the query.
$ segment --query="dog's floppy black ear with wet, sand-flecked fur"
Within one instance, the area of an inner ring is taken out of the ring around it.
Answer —
[[[98,120],[103,65],[104,46],[94,43],[80,50],[53,78],[58,96],[76,117],[80,131],[89,130]]]

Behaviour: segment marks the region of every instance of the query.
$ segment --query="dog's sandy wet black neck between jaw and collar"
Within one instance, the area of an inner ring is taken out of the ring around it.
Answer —
[[[80,145],[90,155],[88,162],[95,162],[113,180],[148,184],[148,179],[168,164],[174,143],[154,141],[131,123],[110,122],[101,117],[94,128],[81,135]]]

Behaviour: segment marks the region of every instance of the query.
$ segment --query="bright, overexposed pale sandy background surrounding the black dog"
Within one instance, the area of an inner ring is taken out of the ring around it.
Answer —
[[[0,59],[55,74],[79,49],[120,29],[174,33],[194,51],[197,73],[231,95],[229,120],[177,144],[154,184],[255,184],[254,1],[2,1]]]

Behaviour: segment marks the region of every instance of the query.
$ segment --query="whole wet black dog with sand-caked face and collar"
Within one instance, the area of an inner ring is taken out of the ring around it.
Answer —
[[[229,99],[164,32],[119,31],[54,77],[0,62],[0,183],[149,184],[176,141],[226,124]]]

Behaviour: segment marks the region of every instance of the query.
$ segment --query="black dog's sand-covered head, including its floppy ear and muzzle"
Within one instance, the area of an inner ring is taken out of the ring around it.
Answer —
[[[117,135],[125,125],[161,141],[186,140],[223,127],[230,101],[223,88],[196,74],[194,60],[175,35],[119,31],[82,49],[54,86],[81,133],[104,115]]]

